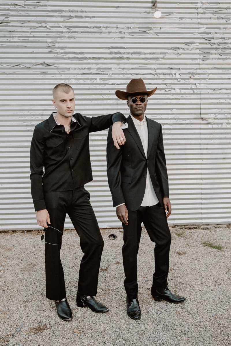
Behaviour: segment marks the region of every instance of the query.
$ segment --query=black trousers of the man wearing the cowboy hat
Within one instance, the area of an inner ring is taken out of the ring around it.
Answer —
[[[123,224],[124,245],[122,247],[124,265],[124,287],[128,298],[135,299],[138,295],[137,284],[137,254],[143,222],[154,247],[155,272],[153,284],[157,287],[167,286],[169,269],[169,250],[171,234],[166,213],[160,203],[151,207],[140,207],[136,211],[128,210],[128,225]]]

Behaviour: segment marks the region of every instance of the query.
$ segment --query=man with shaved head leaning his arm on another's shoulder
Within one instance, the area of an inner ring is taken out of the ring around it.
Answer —
[[[66,214],[80,237],[84,254],[77,305],[98,313],[109,310],[95,299],[104,242],[84,185],[92,180],[89,133],[113,125],[112,138],[119,149],[125,143],[121,126],[126,119],[121,113],[98,117],[74,113],[74,90],[64,83],[54,87],[52,102],[56,111],[35,127],[31,142],[31,193],[37,222],[45,231],[46,297],[55,301],[62,320],[71,321],[60,260]]]

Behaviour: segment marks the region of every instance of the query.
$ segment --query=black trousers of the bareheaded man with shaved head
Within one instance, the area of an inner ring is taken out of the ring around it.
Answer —
[[[73,191],[45,193],[45,203],[50,214],[51,226],[61,231],[60,233],[48,227],[45,232],[46,297],[48,299],[61,300],[66,297],[63,267],[60,260],[66,214],[69,215],[80,237],[80,246],[84,253],[79,269],[78,290],[86,295],[96,295],[97,293],[104,241],[89,198],[90,194],[84,189],[84,186]]]

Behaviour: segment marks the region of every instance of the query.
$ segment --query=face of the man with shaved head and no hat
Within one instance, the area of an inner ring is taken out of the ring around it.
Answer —
[[[71,90],[68,94],[66,94],[64,91],[57,91],[52,102],[57,108],[58,115],[66,118],[69,118],[73,115],[75,108],[73,90]]]

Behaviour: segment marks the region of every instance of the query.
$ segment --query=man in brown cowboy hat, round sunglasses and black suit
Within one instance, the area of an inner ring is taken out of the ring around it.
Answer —
[[[116,215],[122,221],[122,247],[127,294],[127,314],[134,320],[141,318],[138,301],[137,253],[143,222],[154,248],[155,272],[151,295],[156,301],[181,303],[184,297],[168,289],[168,267],[171,234],[167,218],[171,214],[168,174],[163,148],[162,127],[145,117],[150,97],[157,88],[147,91],[141,78],[132,79],[126,92],[116,90],[119,99],[130,108],[128,128],[124,129],[126,143],[117,150],[108,133],[107,174]]]

